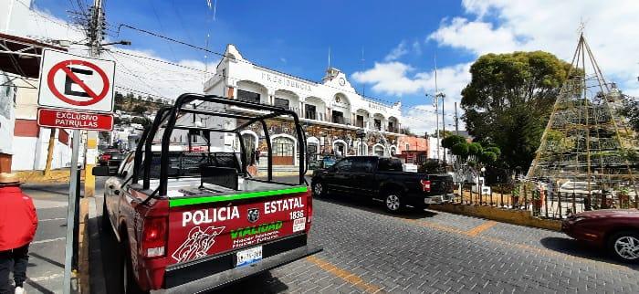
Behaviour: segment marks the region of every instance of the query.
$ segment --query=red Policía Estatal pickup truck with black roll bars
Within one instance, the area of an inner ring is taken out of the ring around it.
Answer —
[[[302,151],[295,184],[272,175],[267,126],[284,116]],[[251,130],[267,148],[264,178],[247,173],[257,144],[248,148],[240,131],[251,126],[262,128]],[[180,145],[184,137],[188,142]],[[307,242],[313,205],[304,146],[297,115],[278,107],[183,94],[159,110],[116,174],[94,168],[96,175],[113,175],[102,219],[120,244],[112,260],[120,265],[120,292],[203,292],[319,252]]]

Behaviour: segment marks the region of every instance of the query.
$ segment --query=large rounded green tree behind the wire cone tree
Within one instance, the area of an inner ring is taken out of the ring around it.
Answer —
[[[470,68],[472,79],[462,90],[466,129],[477,142],[498,146],[506,167],[528,168],[570,68],[543,51],[478,58]]]

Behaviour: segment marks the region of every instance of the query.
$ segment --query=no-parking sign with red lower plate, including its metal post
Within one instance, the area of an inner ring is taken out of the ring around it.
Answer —
[[[80,130],[110,131],[113,128],[113,75],[115,62],[99,58],[85,58],[59,52],[44,50],[40,64],[40,87],[38,88],[37,122],[40,126],[73,131],[73,154],[71,157],[71,178],[68,187],[67,247],[65,250],[64,288],[65,294],[71,293],[71,267],[76,208],[79,199],[79,142]],[[91,142],[90,139],[88,142]],[[95,140],[92,146],[95,148]],[[91,161],[95,155],[87,152],[86,184],[91,187],[94,181],[91,173]]]

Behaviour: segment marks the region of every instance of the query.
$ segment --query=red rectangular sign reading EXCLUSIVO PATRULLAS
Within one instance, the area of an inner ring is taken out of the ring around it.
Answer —
[[[112,131],[113,116],[97,112],[78,110],[37,110],[37,125],[89,131]]]

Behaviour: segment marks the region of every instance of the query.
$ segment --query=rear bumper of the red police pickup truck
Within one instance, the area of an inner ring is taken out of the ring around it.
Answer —
[[[286,247],[286,245],[283,244],[278,244],[276,246]],[[264,250],[266,254],[267,247],[265,247]],[[321,247],[313,247],[304,244],[301,247],[292,248],[283,251],[282,253],[265,257],[255,264],[239,268],[233,268],[228,263],[228,260],[226,259],[230,257],[230,255],[228,257],[217,257],[198,264],[167,268],[165,276],[167,289],[152,291],[152,293],[200,293],[218,289],[232,284],[242,278],[250,277],[272,268],[278,268],[300,258],[316,254],[321,250]],[[224,267],[225,270],[208,275],[204,278],[193,278],[194,275],[197,275],[198,273],[202,274],[203,271],[206,271],[207,269],[219,268],[220,266]]]

